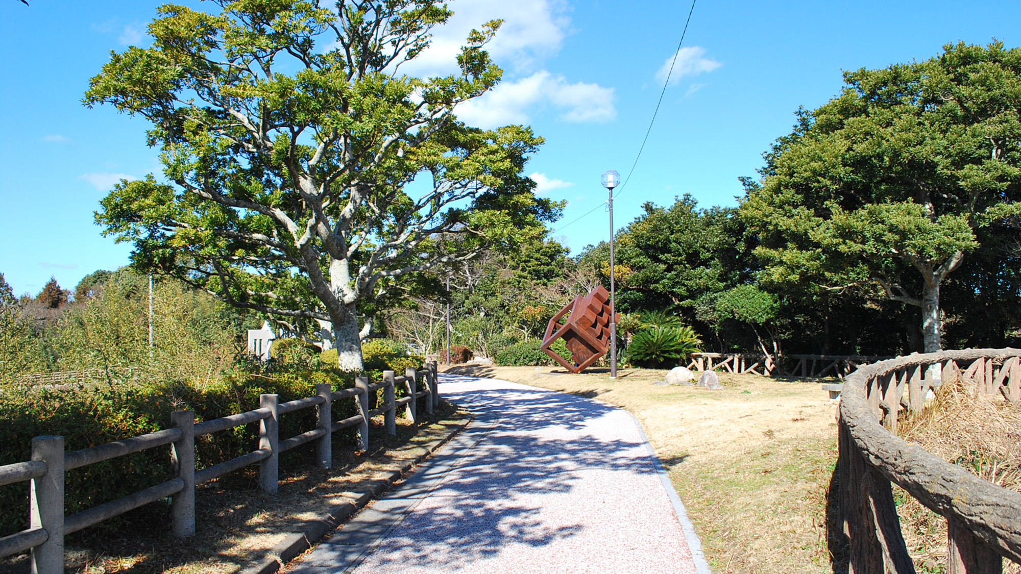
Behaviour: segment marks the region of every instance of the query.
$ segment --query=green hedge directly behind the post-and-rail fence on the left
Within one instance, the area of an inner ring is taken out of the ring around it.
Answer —
[[[329,382],[334,390],[340,390],[353,385],[353,376],[339,370],[278,365],[273,370],[225,377],[203,387],[180,383],[132,387],[87,383],[64,390],[0,389],[3,396],[0,400],[0,465],[31,460],[35,436],[62,435],[65,449],[77,450],[167,428],[173,411],[192,410],[196,421],[207,421],[257,409],[261,393],[277,393],[281,402],[311,396],[315,383],[320,382]],[[338,420],[353,416],[355,412],[353,400],[334,403],[334,416]],[[280,436],[287,438],[313,428],[315,410],[305,409],[281,417]],[[196,465],[204,468],[256,448],[257,424],[197,437]],[[66,514],[168,480],[168,446],[150,448],[68,471],[64,486]],[[283,455],[282,468],[287,468],[288,459],[293,462],[307,456],[305,449],[297,450],[293,455]],[[237,476],[233,480],[238,480]],[[0,536],[28,528],[28,492],[27,482],[0,487]],[[146,509],[146,512],[160,512],[158,505]],[[97,528],[114,526],[106,522]]]

